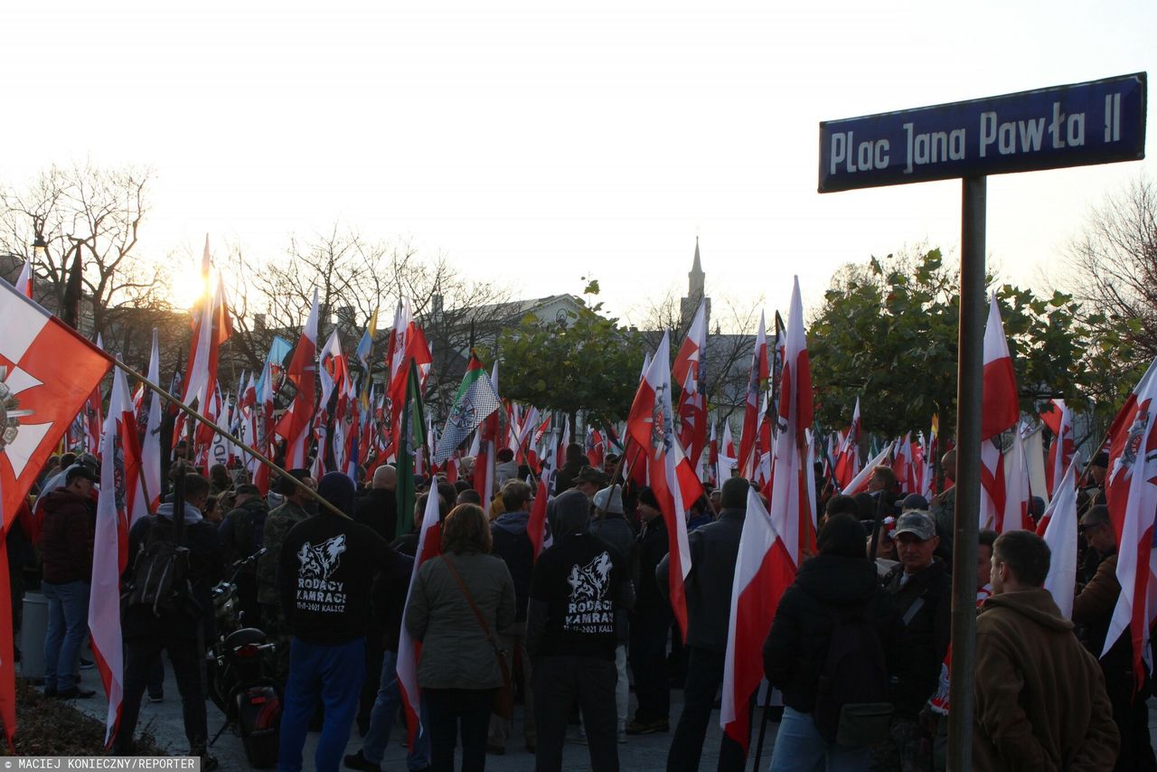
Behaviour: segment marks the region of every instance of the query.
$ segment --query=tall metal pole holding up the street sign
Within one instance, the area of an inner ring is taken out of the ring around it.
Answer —
[[[965,177],[960,233],[957,365],[956,538],[952,546],[952,681],[948,769],[972,769],[977,661],[977,538],[980,530],[980,426],[985,365],[985,212],[987,179]]]

